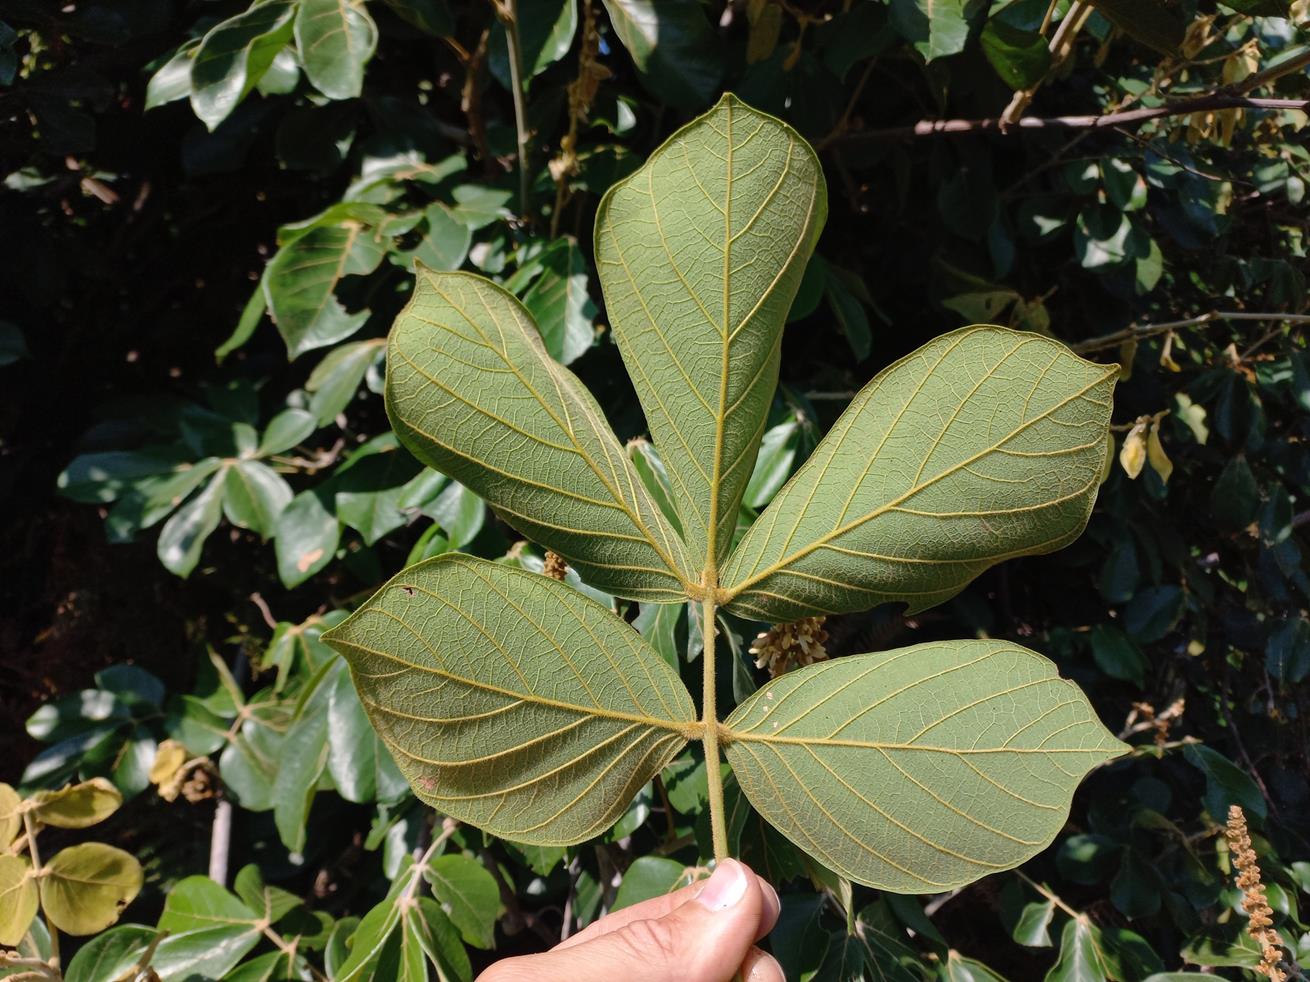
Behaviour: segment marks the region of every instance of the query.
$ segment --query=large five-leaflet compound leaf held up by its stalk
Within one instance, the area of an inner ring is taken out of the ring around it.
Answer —
[[[879,601],[920,611],[1000,559],[1077,537],[1119,369],[998,327],[886,369],[735,536],[825,212],[810,147],[732,96],[601,202],[607,308],[673,513],[528,313],[482,279],[419,270],[388,340],[397,433],[592,587],[700,602],[706,632],[719,608],[766,621]],[[988,642],[810,666],[722,723],[707,691],[697,724],[676,673],[613,614],[458,556],[400,573],[324,640],[418,796],[519,842],[600,834],[698,737],[706,767],[722,742],[756,810],[827,867],[950,889],[1043,848],[1077,779],[1123,752],[1049,663]],[[707,636],[707,687],[714,649]],[[711,782],[719,854],[720,793]]]

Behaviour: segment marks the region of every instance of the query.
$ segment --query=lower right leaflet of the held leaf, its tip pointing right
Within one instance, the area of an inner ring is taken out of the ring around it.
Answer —
[[[1010,869],[1128,748],[1082,691],[1007,642],[931,642],[781,676],[720,738],[751,804],[836,872],[937,893]]]

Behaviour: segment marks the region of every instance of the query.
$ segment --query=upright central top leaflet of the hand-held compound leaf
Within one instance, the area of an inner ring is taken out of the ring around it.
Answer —
[[[810,145],[734,96],[612,187],[596,213],[614,339],[688,549],[710,570],[732,545],[782,326],[827,215]]]

